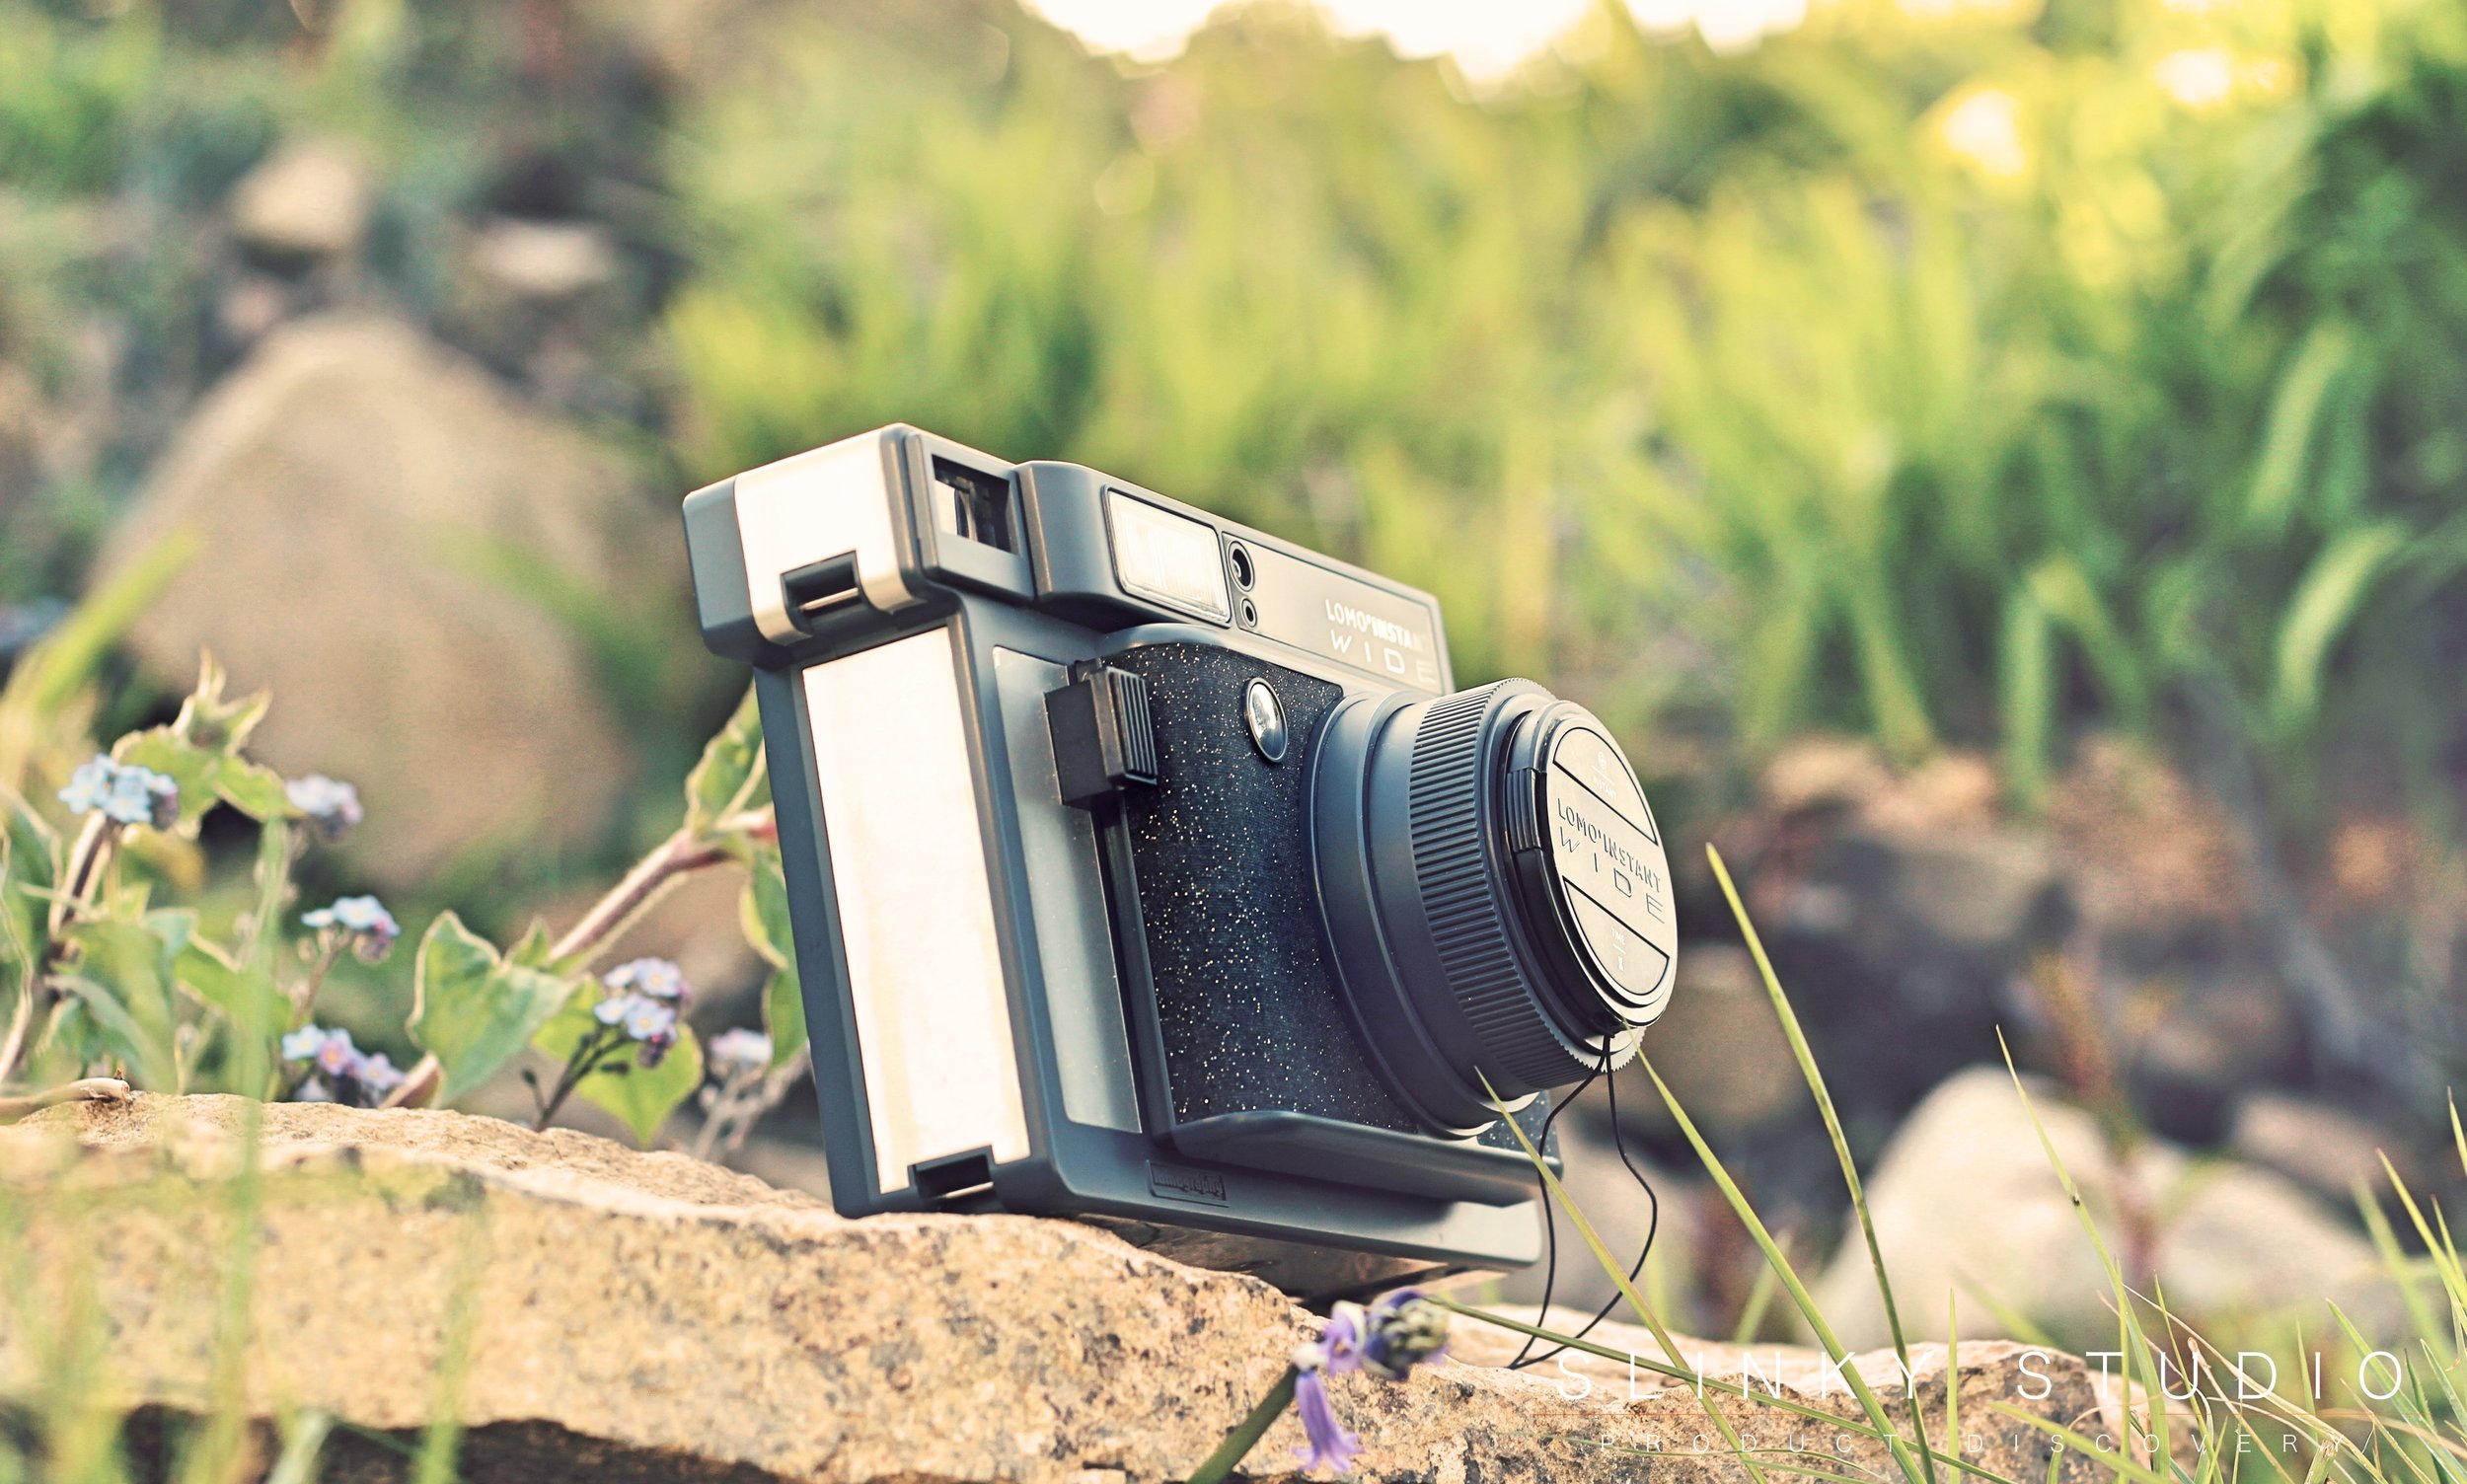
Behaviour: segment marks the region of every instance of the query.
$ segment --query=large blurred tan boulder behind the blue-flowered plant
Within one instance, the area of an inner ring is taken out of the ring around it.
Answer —
[[[538,589],[673,601],[676,537],[624,466],[476,365],[368,318],[281,328],[195,412],[104,572],[175,530],[197,557],[136,624],[187,685],[212,648],[274,688],[259,754],[350,779],[350,865],[382,890],[491,841],[592,841],[624,717]]]

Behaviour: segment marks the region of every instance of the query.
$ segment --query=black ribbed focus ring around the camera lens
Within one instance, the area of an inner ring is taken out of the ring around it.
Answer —
[[[1552,1033],[1507,942],[1507,905],[1483,863],[1483,715],[1505,680],[1431,703],[1414,732],[1406,816],[1414,878],[1448,991],[1473,1023],[1483,1065],[1515,1097],[1557,1087],[1576,1058]]]

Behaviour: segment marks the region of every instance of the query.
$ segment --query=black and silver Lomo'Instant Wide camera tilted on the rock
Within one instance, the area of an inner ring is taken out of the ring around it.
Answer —
[[[1298,1294],[1539,1255],[1500,1107],[1537,1134],[1675,969],[1608,727],[1453,690],[1423,592],[910,426],[696,491],[686,540],[841,1213],[1076,1215]]]

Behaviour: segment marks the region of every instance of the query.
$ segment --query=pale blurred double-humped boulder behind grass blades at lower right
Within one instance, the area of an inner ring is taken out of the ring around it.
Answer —
[[[2215,1321],[2297,1309],[2324,1324],[2326,1299],[2363,1334],[2395,1339],[2398,1304],[2373,1247],[2287,1178],[2161,1141],[2119,1161],[2087,1112],[2045,1087],[2030,1107],[2122,1262],[2136,1260],[2127,1218],[2146,1223],[2173,1311]],[[1961,1072],[1919,1104],[1875,1166],[1868,1205],[1909,1339],[1942,1339],[1959,1297],[1964,1339],[2008,1334],[2001,1307],[2060,1341],[2114,1341],[2107,1272],[2003,1070]],[[1855,1237],[1813,1297],[1843,1343],[1890,1341]]]

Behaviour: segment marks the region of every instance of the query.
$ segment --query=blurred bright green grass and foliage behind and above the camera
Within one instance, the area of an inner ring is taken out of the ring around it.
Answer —
[[[2440,801],[2467,22],[1594,15],[1495,96],[1256,7],[1118,76],[844,30],[681,121],[696,473],[913,419],[1436,589],[1623,722],[2001,744],[2220,705]],[[1648,769],[1655,759],[1648,757]]]

